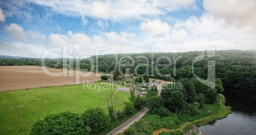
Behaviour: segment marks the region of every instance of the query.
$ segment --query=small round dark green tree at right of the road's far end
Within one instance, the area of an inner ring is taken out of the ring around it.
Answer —
[[[146,107],[154,110],[155,108],[161,108],[164,104],[164,99],[159,96],[152,96],[146,100]]]

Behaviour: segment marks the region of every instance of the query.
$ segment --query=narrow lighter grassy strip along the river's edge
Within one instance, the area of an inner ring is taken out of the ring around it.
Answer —
[[[206,125],[209,124],[215,120],[219,120],[222,118],[227,117],[227,115],[229,115],[229,113],[231,113],[231,107],[230,106],[225,106],[225,99],[223,96],[219,96],[218,97],[218,101],[217,104],[219,105],[219,108],[217,110],[216,113],[213,113],[212,115],[208,116],[208,117],[204,117],[204,118],[199,118],[199,119],[195,119],[191,122],[187,122],[185,124],[182,124],[178,129],[166,129],[166,128],[162,128],[159,129],[157,131],[153,132],[153,135],[157,135],[157,134],[161,134],[164,135],[167,132],[187,132],[190,128],[192,128],[194,125],[198,126],[202,126],[202,125]]]

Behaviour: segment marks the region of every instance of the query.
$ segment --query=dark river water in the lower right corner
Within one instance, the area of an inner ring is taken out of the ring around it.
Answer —
[[[252,134],[256,135],[256,91],[225,89],[226,105],[232,113],[226,118],[199,127],[205,135]]]

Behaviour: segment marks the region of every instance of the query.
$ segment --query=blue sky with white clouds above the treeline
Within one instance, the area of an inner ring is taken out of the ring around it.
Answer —
[[[255,7],[255,0],[0,0],[0,55],[255,50]]]

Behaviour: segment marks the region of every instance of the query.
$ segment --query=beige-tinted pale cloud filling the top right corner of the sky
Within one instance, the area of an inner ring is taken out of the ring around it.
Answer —
[[[204,0],[204,8],[216,18],[238,27],[256,27],[255,0]]]

